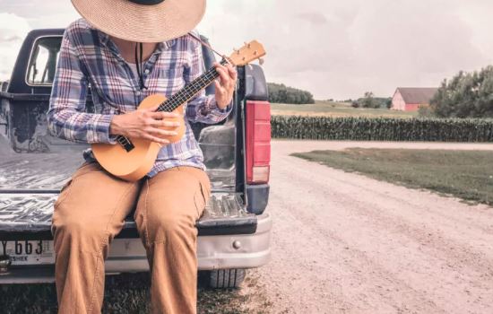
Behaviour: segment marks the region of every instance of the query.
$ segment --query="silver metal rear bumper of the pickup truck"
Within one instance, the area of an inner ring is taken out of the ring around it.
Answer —
[[[271,229],[271,216],[262,214],[257,216],[257,228],[253,234],[199,236],[199,270],[263,266],[271,257]],[[140,239],[114,240],[105,265],[107,274],[149,271]],[[54,282],[53,265],[13,266],[7,274],[0,275],[0,283],[51,282]]]

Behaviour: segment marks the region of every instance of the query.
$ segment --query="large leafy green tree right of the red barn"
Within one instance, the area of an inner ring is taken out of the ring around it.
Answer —
[[[430,111],[441,118],[493,118],[493,66],[445,79],[430,101]]]

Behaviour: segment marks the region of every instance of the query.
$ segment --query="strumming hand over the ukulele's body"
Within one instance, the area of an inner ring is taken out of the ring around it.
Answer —
[[[117,115],[111,119],[109,135],[124,135],[131,138],[142,138],[159,144],[169,144],[169,140],[163,136],[177,135],[177,132],[163,130],[160,127],[172,127],[175,129],[179,122],[169,121],[169,118],[177,118],[173,112],[157,112],[159,105],[142,110],[135,110],[124,115]]]

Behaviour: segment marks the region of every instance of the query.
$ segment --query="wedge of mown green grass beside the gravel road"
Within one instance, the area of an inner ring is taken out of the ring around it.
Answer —
[[[493,152],[351,148],[292,155],[472,204],[493,205]]]

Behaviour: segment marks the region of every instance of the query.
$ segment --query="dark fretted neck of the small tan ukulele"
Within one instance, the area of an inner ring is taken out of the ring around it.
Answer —
[[[227,65],[228,61],[222,59],[221,65]],[[211,85],[216,78],[219,77],[219,73],[215,67],[209,69],[209,71],[196,78],[194,81],[187,83],[186,86],[168,100],[160,104],[158,111],[171,112],[184,104],[186,101],[191,100],[197,92],[202,91],[207,86]]]

